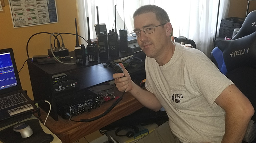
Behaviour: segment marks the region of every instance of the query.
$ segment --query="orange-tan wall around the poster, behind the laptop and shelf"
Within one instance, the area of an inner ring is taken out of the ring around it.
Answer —
[[[77,18],[75,0],[56,0],[58,23],[45,24],[39,26],[13,28],[8,0],[4,0],[5,7],[0,11],[0,48],[13,48],[18,70],[27,59],[26,44],[30,36],[38,32],[67,32],[75,33],[75,18]],[[64,44],[69,51],[74,50],[75,36],[63,35]],[[38,34],[33,36],[28,45],[29,57],[33,55],[48,55],[47,49],[50,45],[49,34]],[[32,88],[28,73],[27,63],[19,73],[22,88],[28,91],[28,95],[33,98]],[[40,81],[39,81],[40,82]],[[43,85],[42,85],[43,86]]]

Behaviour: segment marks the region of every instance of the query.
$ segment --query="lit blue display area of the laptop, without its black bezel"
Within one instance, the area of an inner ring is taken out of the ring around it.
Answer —
[[[17,86],[10,52],[0,54],[0,90]]]

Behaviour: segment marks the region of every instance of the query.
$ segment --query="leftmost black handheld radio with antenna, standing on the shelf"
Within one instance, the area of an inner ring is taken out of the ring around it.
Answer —
[[[86,63],[86,51],[84,44],[79,45],[78,40],[78,33],[77,33],[77,24],[76,24],[76,18],[75,18],[75,34],[76,34],[76,46],[75,46],[75,58],[77,64],[83,64]]]

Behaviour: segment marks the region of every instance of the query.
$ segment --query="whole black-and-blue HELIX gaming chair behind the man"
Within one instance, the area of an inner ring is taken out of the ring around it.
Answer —
[[[210,59],[251,101],[256,111],[256,10],[245,18],[231,40],[217,40]],[[243,141],[255,143],[256,113],[252,116]]]

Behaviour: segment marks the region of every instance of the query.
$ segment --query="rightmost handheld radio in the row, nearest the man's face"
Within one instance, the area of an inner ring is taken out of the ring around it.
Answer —
[[[124,29],[119,30],[119,47],[120,52],[127,52],[128,49],[128,41],[127,41],[127,30],[125,30],[125,7],[123,1],[123,11],[124,11]]]

